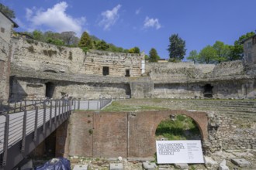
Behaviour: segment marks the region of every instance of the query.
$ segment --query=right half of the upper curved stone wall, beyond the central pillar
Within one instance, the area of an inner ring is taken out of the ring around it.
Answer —
[[[216,66],[194,63],[147,64],[147,73],[154,82],[154,88],[148,90],[147,97],[204,97],[206,84],[213,86],[214,98],[256,97],[255,78],[247,77],[242,61],[223,62]]]

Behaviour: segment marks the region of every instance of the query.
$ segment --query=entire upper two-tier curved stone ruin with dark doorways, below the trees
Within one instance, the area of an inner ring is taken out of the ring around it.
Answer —
[[[254,58],[217,65],[145,63],[143,53],[84,53],[80,48],[17,38],[12,47],[10,99],[60,99],[64,94],[76,99],[254,99]]]

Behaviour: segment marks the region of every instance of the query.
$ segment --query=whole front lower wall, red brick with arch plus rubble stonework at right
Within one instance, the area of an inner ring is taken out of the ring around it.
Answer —
[[[186,110],[142,111],[131,113],[75,112],[68,124],[66,155],[89,157],[153,157],[155,131],[171,114],[192,117],[201,131],[206,155],[215,151],[256,148],[256,124],[252,120],[216,112]],[[253,115],[252,115],[253,116]],[[58,138],[58,137],[57,137]]]

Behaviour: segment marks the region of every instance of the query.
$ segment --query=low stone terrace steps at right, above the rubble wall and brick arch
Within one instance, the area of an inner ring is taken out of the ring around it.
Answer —
[[[256,100],[182,100],[182,99],[145,99],[122,100],[120,104],[130,106],[164,107],[171,110],[212,110],[230,117],[256,120]]]

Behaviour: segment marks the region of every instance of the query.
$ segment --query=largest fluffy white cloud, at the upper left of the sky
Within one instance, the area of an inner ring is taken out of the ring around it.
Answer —
[[[82,26],[85,24],[85,17],[73,18],[67,15],[66,2],[59,2],[53,8],[43,9],[26,8],[26,19],[32,22],[33,29],[45,26],[55,32],[73,31],[81,35]]]

